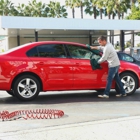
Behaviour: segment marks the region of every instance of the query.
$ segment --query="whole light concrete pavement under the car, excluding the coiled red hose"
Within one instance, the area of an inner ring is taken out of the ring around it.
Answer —
[[[99,99],[88,94],[40,95],[21,103],[1,93],[0,111],[54,108],[58,119],[1,121],[0,140],[140,140],[139,91],[127,98]]]

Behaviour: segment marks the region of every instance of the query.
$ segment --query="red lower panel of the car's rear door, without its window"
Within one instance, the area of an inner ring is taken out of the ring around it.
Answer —
[[[30,58],[44,75],[44,90],[65,90],[73,87],[73,68],[70,59]]]

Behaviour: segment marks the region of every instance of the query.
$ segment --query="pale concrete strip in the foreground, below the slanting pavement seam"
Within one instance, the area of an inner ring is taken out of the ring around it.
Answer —
[[[0,140],[140,140],[140,116],[0,133]]]

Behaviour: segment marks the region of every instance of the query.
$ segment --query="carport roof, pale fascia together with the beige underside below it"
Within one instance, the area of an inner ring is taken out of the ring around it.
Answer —
[[[72,19],[44,17],[0,16],[0,36],[35,37],[35,31],[40,38],[89,38],[107,35],[108,30],[114,30],[114,35],[140,32],[140,20],[107,20],[107,19]]]

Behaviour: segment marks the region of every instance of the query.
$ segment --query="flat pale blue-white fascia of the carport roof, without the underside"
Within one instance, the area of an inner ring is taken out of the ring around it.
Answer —
[[[1,28],[63,30],[140,30],[140,20],[1,16]]]

